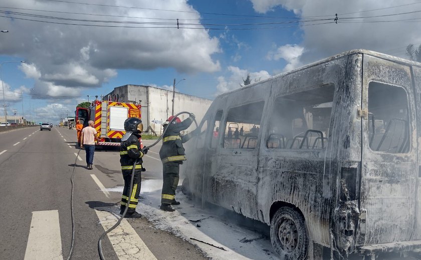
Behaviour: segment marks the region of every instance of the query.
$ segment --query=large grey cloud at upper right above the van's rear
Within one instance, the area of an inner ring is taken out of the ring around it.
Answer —
[[[397,22],[399,19],[419,19],[415,13],[404,15],[392,15],[385,17],[368,17],[384,14],[397,14],[413,11],[415,7],[421,7],[421,3],[410,0],[250,0],[257,12],[268,13],[275,7],[283,7],[294,10],[297,17],[318,16],[321,18],[334,18],[338,14],[338,23],[302,26],[302,42],[300,46],[304,52],[297,58],[288,60],[287,66],[294,64],[307,64],[324,57],[341,53],[350,49],[365,48],[384,52],[396,56],[405,57],[405,46],[409,43],[421,43],[421,34],[418,22]],[[410,4],[410,5],[405,5]],[[405,5],[393,8],[390,6]],[[368,11],[371,10],[371,11]],[[345,14],[347,13],[347,14]],[[324,16],[325,15],[325,16]],[[351,18],[345,17],[361,17]],[[352,20],[353,22],[347,22]],[[378,22],[380,21],[380,22]],[[381,22],[388,21],[388,22]],[[395,22],[390,22],[395,21]],[[317,23],[317,22],[312,22]],[[307,24],[307,23],[302,23]],[[299,50],[299,49],[296,49]],[[275,59],[276,51],[272,52]],[[297,53],[296,53],[297,54]],[[284,58],[284,57],[282,57]],[[297,63],[294,63],[297,62]],[[286,68],[287,69],[287,68]]]

